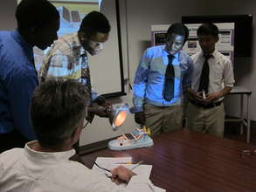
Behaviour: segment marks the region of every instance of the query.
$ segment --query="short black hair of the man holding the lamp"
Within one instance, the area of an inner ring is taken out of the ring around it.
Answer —
[[[110,31],[110,24],[102,13],[99,11],[92,11],[83,18],[80,24],[80,30],[86,33],[88,38],[100,33],[108,33]]]

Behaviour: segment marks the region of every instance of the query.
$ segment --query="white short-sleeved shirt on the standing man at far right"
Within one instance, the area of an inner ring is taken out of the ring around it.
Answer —
[[[225,86],[233,87],[235,80],[231,60],[216,50],[211,55],[208,60],[210,68],[208,93],[221,91]],[[197,92],[205,60],[204,53],[199,51],[191,58],[194,62],[192,89]]]

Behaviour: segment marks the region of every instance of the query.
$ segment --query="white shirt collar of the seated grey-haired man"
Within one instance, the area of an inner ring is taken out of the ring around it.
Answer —
[[[60,161],[69,161],[69,158],[75,154],[75,150],[71,149],[63,152],[39,152],[31,148],[31,145],[38,141],[31,141],[26,143],[24,147],[24,153],[28,156],[29,159],[34,161],[40,161],[46,164],[52,164]]]

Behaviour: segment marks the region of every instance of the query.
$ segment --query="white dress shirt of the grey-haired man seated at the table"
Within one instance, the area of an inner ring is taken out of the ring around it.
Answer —
[[[0,154],[1,192],[154,191],[154,185],[142,175],[133,176],[124,188],[102,173],[69,161],[73,149],[38,152],[30,147],[34,142]]]

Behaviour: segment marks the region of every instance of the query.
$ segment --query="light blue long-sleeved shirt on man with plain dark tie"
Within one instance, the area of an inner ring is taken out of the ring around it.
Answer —
[[[174,55],[172,62],[175,70],[174,98],[168,101],[163,98],[163,86],[169,54],[165,51],[165,45],[160,45],[148,48],[142,55],[135,73],[132,108],[134,113],[142,112],[145,102],[155,106],[181,105],[183,90],[191,86],[193,61],[183,51],[178,51]]]

